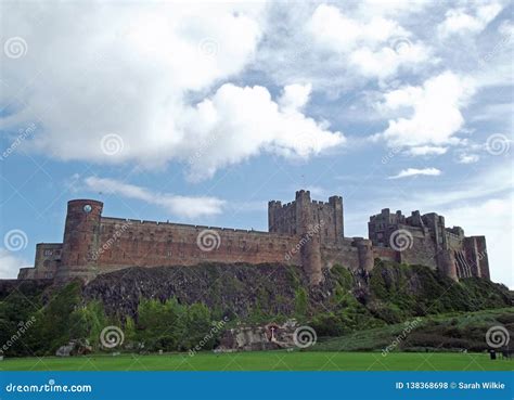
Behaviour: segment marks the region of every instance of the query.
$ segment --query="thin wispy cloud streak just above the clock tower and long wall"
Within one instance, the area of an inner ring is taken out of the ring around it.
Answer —
[[[191,197],[156,193],[145,188],[108,178],[88,177],[83,181],[88,190],[143,201],[160,206],[175,216],[185,218],[220,214],[226,203],[216,197]]]

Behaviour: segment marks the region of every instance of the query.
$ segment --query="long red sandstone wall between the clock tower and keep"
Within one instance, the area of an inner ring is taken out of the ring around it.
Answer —
[[[213,241],[202,244],[202,249],[198,236],[207,229],[102,218],[99,248],[93,258],[98,259],[99,272],[127,266],[192,266],[203,261],[300,264],[299,253],[291,253],[299,241],[297,236],[213,229]]]

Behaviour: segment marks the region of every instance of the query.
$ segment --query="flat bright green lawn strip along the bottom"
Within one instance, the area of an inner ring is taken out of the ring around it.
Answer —
[[[512,371],[513,360],[486,353],[256,351],[163,356],[20,358],[0,361],[0,371]]]

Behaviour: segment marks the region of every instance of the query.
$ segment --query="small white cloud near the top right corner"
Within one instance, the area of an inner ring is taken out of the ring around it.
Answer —
[[[452,35],[478,34],[500,13],[502,5],[499,2],[483,3],[471,8],[448,10],[445,21],[438,26],[441,38]],[[474,9],[473,9],[474,8]]]

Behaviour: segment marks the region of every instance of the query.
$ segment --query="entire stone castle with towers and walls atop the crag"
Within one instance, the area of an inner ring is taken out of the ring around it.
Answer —
[[[453,280],[489,279],[485,237],[446,228],[434,212],[406,218],[383,209],[363,238],[345,237],[340,196],[317,202],[303,190],[294,202],[269,202],[269,232],[104,217],[102,208],[92,199],[68,202],[63,243],[38,244],[35,267],[22,268],[18,279],[89,281],[136,266],[280,262],[301,267],[318,284],[324,268],[370,271],[376,258],[424,264]]]

